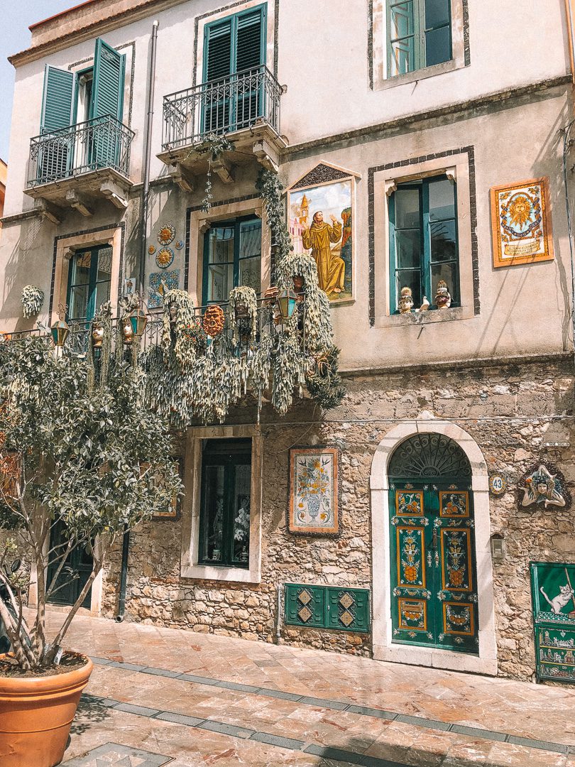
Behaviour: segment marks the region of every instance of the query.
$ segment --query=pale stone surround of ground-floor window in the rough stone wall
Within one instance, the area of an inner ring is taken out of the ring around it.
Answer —
[[[251,437],[251,501],[249,568],[199,565],[199,515],[202,489],[202,440]],[[261,582],[261,492],[263,444],[259,426],[190,427],[186,433],[182,499],[182,578],[235,583]]]

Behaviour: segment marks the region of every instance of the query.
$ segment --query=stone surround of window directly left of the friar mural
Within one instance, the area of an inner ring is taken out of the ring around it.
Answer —
[[[211,222],[228,221],[250,213],[261,219],[261,293],[271,285],[271,230],[267,216],[264,213],[264,203],[260,198],[251,197],[237,202],[215,202],[209,213],[201,209],[189,212],[189,250],[193,253],[192,243],[195,242],[196,269],[189,269],[187,289],[192,295],[196,306],[202,305],[202,280],[204,268],[204,235],[209,230]],[[192,260],[193,263],[193,260]]]

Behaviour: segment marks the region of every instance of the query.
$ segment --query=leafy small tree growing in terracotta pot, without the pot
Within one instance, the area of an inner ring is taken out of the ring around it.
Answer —
[[[35,614],[28,613],[27,622],[24,584],[0,567],[11,606],[0,600],[0,617],[24,669],[54,663],[118,538],[165,509],[180,491],[169,426],[140,401],[145,374],[121,355],[106,368],[105,380],[96,376],[94,385],[90,355],[56,354],[49,337],[0,344],[0,528],[24,540],[38,591]],[[51,531],[57,524],[64,526],[65,536],[54,542]],[[48,640],[46,602],[77,578],[69,558],[78,547],[87,549],[94,566],[58,633]],[[10,544],[5,559],[9,551]]]

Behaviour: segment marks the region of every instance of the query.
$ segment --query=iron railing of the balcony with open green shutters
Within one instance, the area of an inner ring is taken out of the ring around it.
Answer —
[[[133,130],[111,115],[36,136],[30,142],[28,186],[102,168],[112,168],[127,177],[133,137]]]

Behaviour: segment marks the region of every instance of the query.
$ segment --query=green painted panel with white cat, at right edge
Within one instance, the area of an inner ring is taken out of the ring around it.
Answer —
[[[575,565],[531,562],[537,677],[575,682]]]

